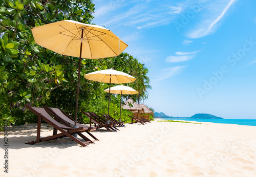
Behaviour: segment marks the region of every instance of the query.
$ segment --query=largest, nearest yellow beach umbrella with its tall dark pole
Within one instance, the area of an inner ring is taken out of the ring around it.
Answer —
[[[76,126],[81,58],[97,59],[118,56],[127,45],[109,29],[73,20],[62,20],[34,27],[31,31],[37,45],[61,55],[79,57]]]

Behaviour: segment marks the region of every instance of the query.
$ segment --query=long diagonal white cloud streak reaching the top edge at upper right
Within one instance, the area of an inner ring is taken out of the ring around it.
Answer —
[[[218,25],[220,25],[220,20],[225,16],[230,6],[236,1],[238,0],[229,0],[228,3],[223,0],[212,2],[212,4],[208,6],[207,14],[203,14],[203,20],[195,29],[187,33],[187,37],[200,38],[214,33],[217,30]]]

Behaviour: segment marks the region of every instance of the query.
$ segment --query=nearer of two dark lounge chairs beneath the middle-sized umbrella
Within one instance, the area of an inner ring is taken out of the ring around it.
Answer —
[[[95,113],[86,113],[86,112],[82,112],[83,114],[85,114],[87,117],[90,118],[90,126],[92,126],[92,122],[94,123],[94,125],[98,125],[99,128],[106,128],[109,131],[116,131],[113,125],[113,123],[107,124],[105,121],[102,121],[102,119],[100,119]]]

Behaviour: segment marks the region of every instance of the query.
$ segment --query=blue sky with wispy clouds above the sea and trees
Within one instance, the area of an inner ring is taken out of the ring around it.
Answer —
[[[256,119],[256,1],[93,3],[93,23],[113,31],[149,70],[144,104],[155,112]]]

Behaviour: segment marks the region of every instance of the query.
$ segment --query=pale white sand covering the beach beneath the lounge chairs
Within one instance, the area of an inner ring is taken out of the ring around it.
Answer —
[[[1,132],[0,176],[256,176],[256,126],[152,122],[119,129],[93,131],[100,141],[81,147],[68,138],[27,145],[36,124],[9,127],[9,169]],[[41,136],[50,130],[44,124]]]

